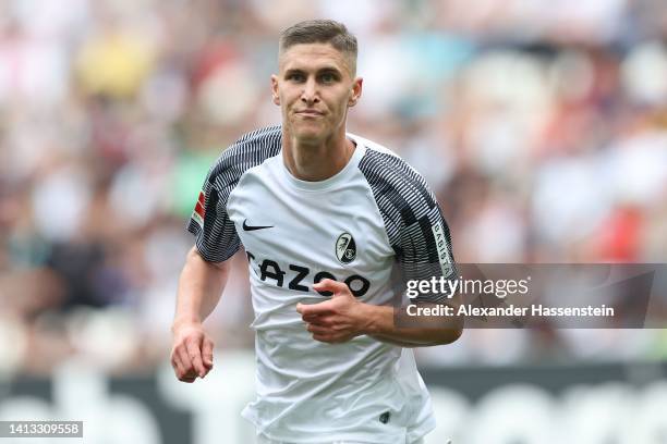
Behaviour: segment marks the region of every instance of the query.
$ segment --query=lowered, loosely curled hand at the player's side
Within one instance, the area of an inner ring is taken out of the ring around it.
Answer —
[[[180,381],[192,383],[213,369],[214,343],[201,323],[174,325],[171,367]]]

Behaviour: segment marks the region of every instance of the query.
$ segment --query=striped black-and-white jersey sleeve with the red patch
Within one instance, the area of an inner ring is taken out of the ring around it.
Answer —
[[[241,176],[278,155],[281,145],[280,126],[256,130],[225,150],[208,171],[187,223],[187,231],[195,235],[197,250],[206,261],[222,262],[241,247],[237,227],[227,213],[227,201]]]

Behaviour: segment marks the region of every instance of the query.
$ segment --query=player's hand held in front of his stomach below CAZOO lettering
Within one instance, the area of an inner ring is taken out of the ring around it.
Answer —
[[[331,299],[324,303],[305,305],[296,304],[296,311],[306,323],[306,330],[315,341],[328,344],[340,344],[365,334],[368,322],[365,313],[366,304],[360,303],[348,285],[325,279],[313,285],[317,292],[331,292]]]

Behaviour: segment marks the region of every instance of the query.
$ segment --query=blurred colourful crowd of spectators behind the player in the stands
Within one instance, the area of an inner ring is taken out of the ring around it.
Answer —
[[[280,121],[279,32],[360,41],[349,131],[415,166],[460,262],[665,262],[663,0],[0,1],[0,374],[166,362],[210,163]],[[252,347],[243,257],[207,321]],[[667,356],[667,334],[468,331],[432,365]],[[223,359],[223,358],[222,358]]]

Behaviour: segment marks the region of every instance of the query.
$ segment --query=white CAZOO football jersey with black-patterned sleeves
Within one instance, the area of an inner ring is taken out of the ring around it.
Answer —
[[[348,164],[304,182],[284,166],[280,126],[245,135],[210,169],[189,225],[207,261],[245,248],[257,398],[242,415],[276,441],[403,444],[435,427],[411,349],[367,335],[322,343],[296,312],[329,298],[313,289],[323,279],[345,282],[362,303],[397,305],[395,264],[404,280],[452,273],[448,229],[424,180],[386,148],[348,137],[356,145]]]

